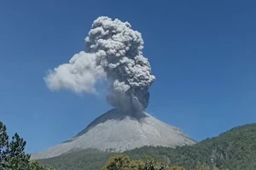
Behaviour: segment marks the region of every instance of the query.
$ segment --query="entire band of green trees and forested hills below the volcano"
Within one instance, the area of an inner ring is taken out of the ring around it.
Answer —
[[[235,127],[216,138],[193,146],[149,147],[125,151],[124,155],[99,150],[80,150],[55,158],[29,161],[26,141],[15,135],[9,141],[0,122],[1,170],[255,170],[256,124]],[[149,156],[149,157],[146,157]],[[109,158],[110,157],[110,158]],[[145,158],[146,157],[146,158]]]

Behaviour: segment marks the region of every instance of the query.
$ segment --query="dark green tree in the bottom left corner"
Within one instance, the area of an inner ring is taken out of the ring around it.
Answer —
[[[29,161],[30,155],[25,154],[26,141],[15,133],[9,142],[9,136],[3,122],[0,122],[0,169],[1,170],[54,170],[44,167],[37,161]]]

